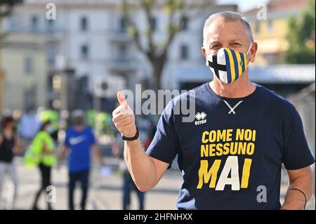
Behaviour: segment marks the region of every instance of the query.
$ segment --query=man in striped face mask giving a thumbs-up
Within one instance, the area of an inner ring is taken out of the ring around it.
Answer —
[[[118,93],[121,105],[113,121],[126,139],[126,163],[140,190],[157,185],[178,154],[184,180],[178,209],[303,209],[312,195],[315,160],[295,107],[249,81],[247,66],[257,49],[239,13],[211,15],[202,53],[213,81],[185,93],[195,93],[196,119],[183,122],[174,110],[179,98],[171,100],[147,154],[136,139],[134,115]],[[282,163],[289,189],[281,206]]]

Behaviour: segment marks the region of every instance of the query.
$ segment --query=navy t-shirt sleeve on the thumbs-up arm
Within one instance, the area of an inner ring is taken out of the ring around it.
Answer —
[[[157,131],[147,149],[150,157],[171,164],[179,150],[179,143],[174,129],[173,100],[164,109],[157,124]]]

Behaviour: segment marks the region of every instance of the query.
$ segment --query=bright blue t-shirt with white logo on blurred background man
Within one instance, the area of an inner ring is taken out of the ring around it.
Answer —
[[[69,171],[70,173],[85,171],[91,166],[91,146],[96,143],[90,128],[77,131],[71,127],[66,132],[65,145],[70,147]]]

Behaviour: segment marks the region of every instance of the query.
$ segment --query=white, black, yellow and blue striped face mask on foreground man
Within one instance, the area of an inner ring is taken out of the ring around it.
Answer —
[[[224,84],[231,84],[242,76],[248,67],[247,55],[251,49],[249,46],[247,53],[234,51],[230,48],[220,48],[211,54],[207,60],[213,74]]]

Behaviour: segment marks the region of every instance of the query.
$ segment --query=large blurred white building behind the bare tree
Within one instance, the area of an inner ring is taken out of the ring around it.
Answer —
[[[179,88],[179,83],[185,81],[178,75],[180,71],[205,67],[201,47],[206,18],[218,11],[237,11],[236,5],[214,6],[212,1],[203,1],[202,7],[190,9],[185,29],[169,48],[169,60],[162,78],[163,88]],[[150,65],[124,29],[119,10],[121,0],[54,0],[56,20],[46,19],[46,4],[49,2],[25,0],[25,4],[15,8],[4,27],[8,31],[46,34],[48,72],[55,80],[53,77],[63,64],[74,67],[81,91],[79,95],[86,95],[74,99],[81,102],[81,106],[93,107],[92,102],[96,103],[100,97],[105,98],[103,104],[113,104],[116,91],[124,88],[133,90],[135,84],[151,82]],[[162,43],[166,39],[168,15],[162,7],[157,7],[153,14],[154,41]],[[140,30],[145,31],[147,25],[143,12],[135,9],[131,15]],[[212,77],[211,73],[209,75]],[[51,102],[56,98],[53,90],[48,98]],[[58,106],[58,103],[55,105]]]

